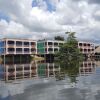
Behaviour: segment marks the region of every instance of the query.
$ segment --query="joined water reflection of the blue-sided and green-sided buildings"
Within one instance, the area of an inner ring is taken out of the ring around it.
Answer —
[[[25,78],[56,77],[60,74],[60,66],[56,63],[32,62],[28,64],[0,65],[1,79],[5,81]]]

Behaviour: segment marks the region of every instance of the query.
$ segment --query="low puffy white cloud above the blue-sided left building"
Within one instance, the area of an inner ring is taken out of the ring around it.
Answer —
[[[15,23],[14,21],[10,21],[9,23],[5,20],[0,21],[0,35],[2,38],[4,37],[26,37],[30,35],[30,32],[27,28],[25,28],[20,23]]]

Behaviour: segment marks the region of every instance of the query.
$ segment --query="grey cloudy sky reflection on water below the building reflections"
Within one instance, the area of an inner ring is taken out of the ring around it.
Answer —
[[[0,100],[7,96],[13,100],[100,100],[99,67],[92,74],[78,76],[77,80],[77,83],[70,83],[66,77],[62,81],[54,78],[24,79],[14,83],[2,81]]]

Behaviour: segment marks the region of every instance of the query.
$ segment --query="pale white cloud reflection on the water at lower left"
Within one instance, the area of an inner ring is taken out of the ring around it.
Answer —
[[[2,98],[5,98],[7,96],[14,96],[16,94],[22,94],[24,93],[24,90],[31,86],[31,85],[36,85],[36,84],[45,84],[48,83],[47,79],[27,79],[27,80],[22,80],[22,81],[16,81],[15,83],[0,83],[0,96]],[[41,85],[40,84],[40,85]],[[1,100],[1,99],[0,99]]]

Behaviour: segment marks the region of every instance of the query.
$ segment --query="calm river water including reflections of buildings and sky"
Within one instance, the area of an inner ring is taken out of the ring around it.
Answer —
[[[53,62],[1,64],[0,100],[100,100],[100,62],[84,61],[76,72]]]

